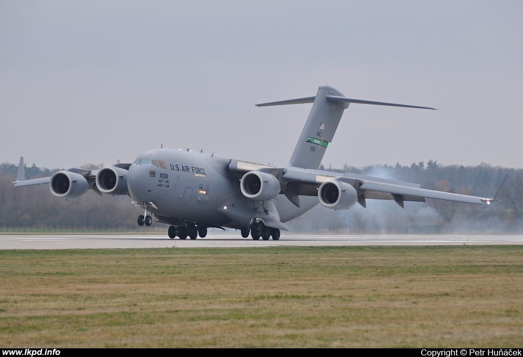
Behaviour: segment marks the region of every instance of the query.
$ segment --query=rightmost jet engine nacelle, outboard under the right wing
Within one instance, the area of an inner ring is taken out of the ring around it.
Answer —
[[[318,197],[323,206],[332,209],[349,209],[358,201],[358,193],[352,185],[335,180],[322,183]]]

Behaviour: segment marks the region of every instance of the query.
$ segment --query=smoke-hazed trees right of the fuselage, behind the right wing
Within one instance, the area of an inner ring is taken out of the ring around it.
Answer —
[[[343,169],[386,179],[419,183],[422,188],[465,195],[492,197],[505,174],[509,178],[500,197],[491,205],[470,205],[427,199],[426,203],[405,202],[402,209],[394,201],[367,200],[367,208],[356,204],[343,211],[315,207],[309,215],[289,222],[300,231],[338,233],[523,233],[523,170],[491,166],[440,165],[437,161],[411,165],[371,165]]]

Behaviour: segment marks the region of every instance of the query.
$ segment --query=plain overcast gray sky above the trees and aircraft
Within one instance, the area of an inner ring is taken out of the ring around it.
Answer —
[[[351,104],[323,163],[523,167],[521,1],[0,2],[0,160],[164,147],[286,164],[313,96]]]

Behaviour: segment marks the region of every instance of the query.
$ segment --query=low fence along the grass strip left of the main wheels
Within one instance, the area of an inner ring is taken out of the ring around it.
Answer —
[[[169,225],[150,227],[112,222],[0,222],[0,233],[167,233]]]

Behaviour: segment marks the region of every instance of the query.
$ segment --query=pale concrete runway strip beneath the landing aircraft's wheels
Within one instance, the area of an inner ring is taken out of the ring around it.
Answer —
[[[209,234],[196,240],[164,235],[0,235],[0,249],[195,248],[348,245],[523,244],[523,235],[323,235],[282,234],[279,241],[254,241],[240,233]]]

